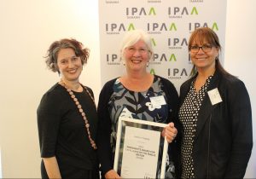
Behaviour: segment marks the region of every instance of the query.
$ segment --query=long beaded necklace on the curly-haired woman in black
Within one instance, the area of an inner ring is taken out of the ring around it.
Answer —
[[[97,149],[96,147],[96,143],[95,141],[93,141],[93,139],[91,138],[90,136],[90,124],[89,124],[89,121],[88,119],[86,118],[86,115],[84,113],[84,110],[82,108],[82,106],[80,105],[79,103],[79,100],[78,98],[76,98],[76,96],[73,94],[73,91],[69,88],[67,88],[67,85],[63,82],[63,80],[61,79],[60,83],[61,86],[63,86],[66,90],[67,90],[67,93],[70,95],[70,97],[72,98],[72,100],[74,101],[74,103],[77,105],[78,109],[79,109],[79,113],[81,114],[82,118],[84,119],[84,123],[85,123],[85,129],[87,131],[87,134],[88,134],[88,138],[89,138],[89,141],[90,141],[90,145],[91,147],[93,147],[93,149]],[[86,93],[90,96],[90,99],[93,101],[95,107],[96,107],[96,104],[95,104],[95,101],[94,101],[94,98],[92,95],[90,95],[90,92],[89,90],[87,90],[87,88],[81,84],[81,86],[84,88],[84,90],[86,91]]]

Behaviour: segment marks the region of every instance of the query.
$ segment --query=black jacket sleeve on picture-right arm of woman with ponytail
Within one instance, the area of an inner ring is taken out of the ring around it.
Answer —
[[[228,100],[232,123],[232,150],[224,177],[243,178],[253,148],[253,129],[249,95],[240,80],[230,85]]]

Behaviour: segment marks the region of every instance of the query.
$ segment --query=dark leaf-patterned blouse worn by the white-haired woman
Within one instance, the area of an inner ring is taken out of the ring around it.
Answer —
[[[111,134],[111,148],[115,151],[116,132],[118,128],[119,117],[137,118],[141,120],[148,120],[157,123],[166,124],[168,118],[168,105],[166,103],[166,93],[162,90],[163,84],[160,78],[154,76],[154,82],[150,88],[143,92],[135,92],[125,88],[116,79],[113,84],[113,94],[108,102],[108,111],[110,113],[112,134]],[[152,103],[153,97],[163,97],[165,104],[154,105]],[[169,175],[174,172],[174,165],[169,161],[169,156],[166,157],[166,167],[169,169]],[[159,173],[159,172],[158,172]],[[159,176],[159,174],[158,174]]]

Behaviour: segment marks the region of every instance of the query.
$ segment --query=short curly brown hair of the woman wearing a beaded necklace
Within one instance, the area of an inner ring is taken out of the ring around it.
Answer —
[[[73,38],[70,38],[70,39],[63,38],[59,41],[55,41],[54,43],[51,43],[49,46],[49,49],[47,50],[47,55],[44,58],[46,58],[45,63],[46,63],[46,66],[49,68],[49,70],[51,70],[52,72],[59,72],[58,66],[57,66],[58,53],[60,49],[67,49],[67,48],[71,48],[74,50],[75,55],[81,58],[83,65],[87,63],[90,50],[87,48],[84,48],[83,43],[80,43],[79,41]]]

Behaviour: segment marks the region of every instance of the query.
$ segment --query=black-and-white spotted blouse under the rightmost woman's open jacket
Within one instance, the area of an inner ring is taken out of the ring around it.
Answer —
[[[192,159],[195,130],[201,103],[207,94],[207,88],[211,79],[212,76],[208,77],[206,84],[204,84],[198,92],[195,91],[194,80],[191,83],[189,93],[179,110],[179,118],[183,124],[182,178],[195,178],[194,162]]]

